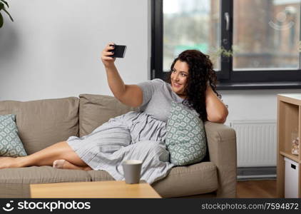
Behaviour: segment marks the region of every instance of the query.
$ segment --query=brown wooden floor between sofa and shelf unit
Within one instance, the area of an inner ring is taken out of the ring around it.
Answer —
[[[238,198],[277,198],[276,180],[238,181]]]

